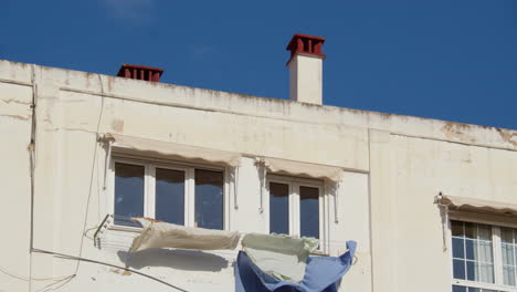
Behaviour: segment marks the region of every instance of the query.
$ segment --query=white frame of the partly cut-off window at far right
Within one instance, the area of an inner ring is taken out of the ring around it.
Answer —
[[[453,243],[452,243],[452,229],[451,229],[451,221],[461,221],[461,222],[472,222],[472,223],[481,223],[481,225],[488,225],[492,227],[492,257],[494,259],[494,282],[495,283],[483,283],[476,281],[468,281],[468,280],[458,280],[454,279],[454,267],[453,267]],[[509,286],[503,284],[503,251],[500,246],[500,228],[517,228],[516,225],[502,225],[500,222],[493,222],[489,220],[476,220],[476,219],[465,219],[461,216],[451,216],[449,220],[449,242],[451,243],[451,249],[449,252],[450,255],[450,269],[451,269],[451,278],[452,278],[452,285],[461,285],[467,288],[478,288],[478,289],[488,289],[495,290],[500,292],[517,292],[517,286]],[[451,285],[451,289],[452,289]]]

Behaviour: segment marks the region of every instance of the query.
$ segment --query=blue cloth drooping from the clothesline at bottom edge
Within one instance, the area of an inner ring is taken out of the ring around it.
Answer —
[[[258,269],[243,251],[234,267],[236,292],[336,292],[337,282],[351,267],[357,243],[347,241],[340,257],[309,257],[304,280],[299,283],[278,280]]]

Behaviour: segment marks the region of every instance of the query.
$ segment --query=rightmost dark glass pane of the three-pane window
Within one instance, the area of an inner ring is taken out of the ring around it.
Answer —
[[[196,226],[223,229],[223,173],[196,169]]]

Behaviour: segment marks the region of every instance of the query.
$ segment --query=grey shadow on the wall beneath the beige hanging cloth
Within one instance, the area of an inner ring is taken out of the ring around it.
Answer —
[[[148,249],[138,252],[118,251],[127,268],[168,267],[186,271],[218,272],[228,268],[228,260],[198,250]]]

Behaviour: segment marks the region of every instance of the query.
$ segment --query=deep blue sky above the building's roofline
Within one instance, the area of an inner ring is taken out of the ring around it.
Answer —
[[[288,98],[294,33],[327,38],[324,103],[517,129],[515,0],[2,0],[0,59]]]

